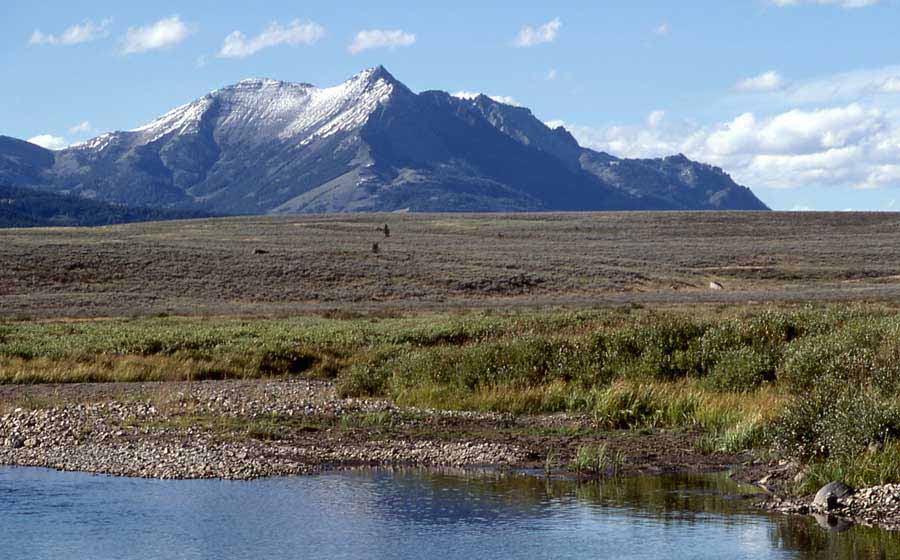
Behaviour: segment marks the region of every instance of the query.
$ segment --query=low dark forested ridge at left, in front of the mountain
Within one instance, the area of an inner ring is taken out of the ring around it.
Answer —
[[[0,228],[105,226],[206,216],[208,214],[198,211],[134,208],[80,196],[0,185]]]

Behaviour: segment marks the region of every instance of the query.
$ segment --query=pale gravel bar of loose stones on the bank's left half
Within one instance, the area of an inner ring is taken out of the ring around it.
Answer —
[[[0,463],[146,478],[246,480],[338,465],[503,467],[527,460],[523,450],[502,443],[366,438],[338,430],[331,426],[348,415],[391,418],[398,411],[383,401],[338,399],[328,384],[314,381],[204,383],[149,399],[126,395],[90,404],[17,407],[0,417]],[[208,425],[223,418],[239,419],[239,427]],[[275,427],[283,422],[300,435],[243,433],[259,422]]]

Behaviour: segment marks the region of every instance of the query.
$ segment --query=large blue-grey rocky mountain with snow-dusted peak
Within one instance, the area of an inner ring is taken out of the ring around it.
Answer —
[[[721,169],[589,150],[528,109],[416,94],[380,66],[329,88],[244,80],[58,152],[0,138],[0,179],[218,214],[766,209]]]

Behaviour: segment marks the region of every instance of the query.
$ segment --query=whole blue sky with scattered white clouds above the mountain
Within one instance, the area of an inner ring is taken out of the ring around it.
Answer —
[[[248,77],[384,64],[582,144],[683,152],[776,209],[900,210],[900,0],[0,4],[0,134],[64,146]]]

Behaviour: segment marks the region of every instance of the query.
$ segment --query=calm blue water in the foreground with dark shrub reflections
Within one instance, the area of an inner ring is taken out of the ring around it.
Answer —
[[[228,482],[0,468],[0,556],[853,558],[900,546],[878,531],[834,535],[754,512],[726,497],[738,491],[721,476],[576,487],[414,472]]]

